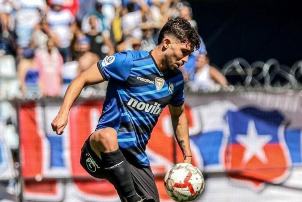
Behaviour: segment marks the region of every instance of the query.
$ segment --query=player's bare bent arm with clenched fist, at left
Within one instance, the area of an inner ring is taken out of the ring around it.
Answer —
[[[82,89],[85,86],[101,83],[103,81],[105,81],[105,78],[100,74],[96,63],[72,80],[67,88],[58,115],[51,123],[53,131],[55,131],[56,134],[60,135],[63,133],[63,130],[67,125],[69,110],[76,98],[79,97]]]

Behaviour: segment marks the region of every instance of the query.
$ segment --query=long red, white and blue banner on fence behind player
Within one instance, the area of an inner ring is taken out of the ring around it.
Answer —
[[[301,98],[299,93],[187,94],[193,164],[205,177],[205,190],[196,201],[299,201]],[[60,136],[50,123],[61,101],[21,104],[24,199],[120,201],[111,184],[92,178],[79,164],[81,147],[95,129],[102,103],[102,99],[77,101]],[[173,141],[165,108],[146,149],[161,201],[172,201],[163,187],[165,172],[183,161]]]

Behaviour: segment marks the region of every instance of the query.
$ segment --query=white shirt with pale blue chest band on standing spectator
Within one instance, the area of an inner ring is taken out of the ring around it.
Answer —
[[[67,48],[71,41],[69,24],[75,20],[72,13],[68,9],[59,12],[50,10],[46,19],[50,24],[50,28],[56,32],[60,39],[60,48]]]

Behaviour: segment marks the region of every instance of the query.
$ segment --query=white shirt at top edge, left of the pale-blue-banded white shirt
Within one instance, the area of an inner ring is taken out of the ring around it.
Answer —
[[[38,9],[44,10],[46,2],[44,0],[15,0],[13,4],[18,9],[16,20],[17,26],[34,27],[40,22]]]

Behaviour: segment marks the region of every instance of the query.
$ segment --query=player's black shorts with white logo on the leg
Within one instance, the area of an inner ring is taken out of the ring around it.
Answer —
[[[87,171],[93,177],[106,179],[111,184],[114,184],[112,183],[109,175],[104,170],[102,160],[91,149],[89,138],[85,141],[81,152],[80,164],[85,169],[85,171]],[[138,167],[130,164],[130,169],[137,194],[146,198],[146,202],[159,202],[159,194],[151,168]],[[119,190],[117,190],[117,193],[123,202],[127,202],[127,200],[120,194]]]

